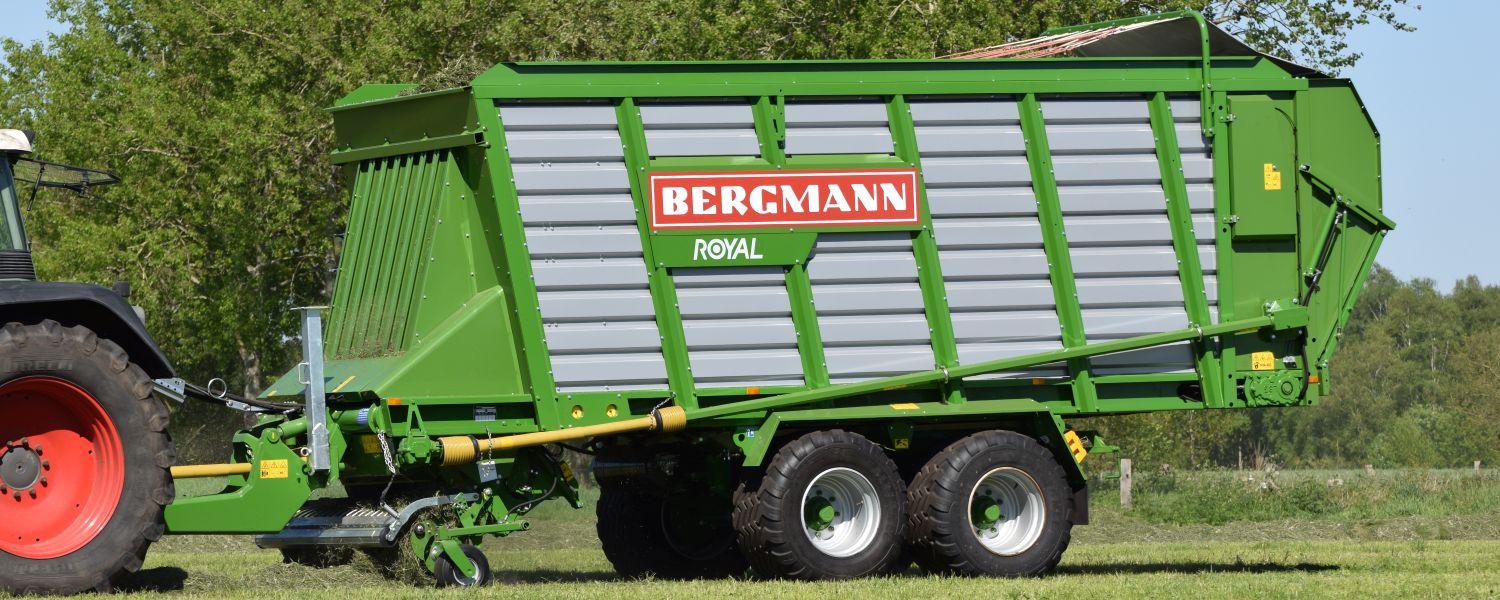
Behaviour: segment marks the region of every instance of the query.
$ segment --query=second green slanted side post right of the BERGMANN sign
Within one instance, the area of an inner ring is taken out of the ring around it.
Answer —
[[[1052,146],[1047,144],[1041,100],[1029,93],[1022,96],[1018,105],[1022,136],[1026,138],[1026,164],[1030,166],[1032,192],[1036,195],[1036,219],[1041,220],[1052,294],[1058,303],[1062,346],[1083,346],[1089,340],[1083,332],[1083,308],[1078,306],[1078,285],[1072,276],[1072,256],[1068,254],[1068,231],[1062,225],[1062,200],[1058,196],[1058,177],[1052,170]],[[1068,372],[1072,375],[1072,402],[1078,406],[1078,412],[1098,411],[1100,393],[1094,384],[1089,358],[1070,358]]]

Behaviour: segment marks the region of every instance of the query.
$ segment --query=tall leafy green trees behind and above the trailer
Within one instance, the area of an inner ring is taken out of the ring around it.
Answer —
[[[28,214],[42,274],[130,280],[184,376],[254,393],[292,362],[290,308],[328,300],[346,200],[324,108],[360,84],[454,86],[508,60],[933,57],[1182,8],[1336,69],[1358,58],[1352,28],[1406,28],[1404,3],[51,0],[62,33],[3,42],[0,122],[126,182],[44,194]]]

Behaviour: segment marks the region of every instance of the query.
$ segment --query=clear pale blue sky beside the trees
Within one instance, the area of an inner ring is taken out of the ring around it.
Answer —
[[[10,0],[0,36],[36,40],[58,26],[42,0]],[[1350,36],[1364,58],[1354,80],[1380,128],[1386,214],[1396,231],[1380,262],[1448,290],[1467,274],[1500,284],[1500,98],[1480,42],[1496,36],[1500,2],[1432,2],[1404,10],[1416,33],[1368,26]],[[1491,171],[1496,170],[1496,171]]]

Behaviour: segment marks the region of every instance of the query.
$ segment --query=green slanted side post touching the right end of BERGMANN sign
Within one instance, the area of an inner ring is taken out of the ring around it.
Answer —
[[[922,172],[922,160],[916,148],[916,129],[906,96],[896,94],[886,104],[886,120],[896,142],[896,158]],[[952,330],[952,314],[948,310],[948,288],[942,280],[942,264],[938,260],[938,240],[933,237],[933,218],[927,206],[927,186],[918,186],[922,228],[912,238],[912,254],[916,256],[916,282],[922,291],[922,312],[927,315],[927,333],[932,334],[933,362],[939,368],[958,366],[958,342]],[[958,381],[945,382],[942,390],[948,402],[963,402],[963,387]]]

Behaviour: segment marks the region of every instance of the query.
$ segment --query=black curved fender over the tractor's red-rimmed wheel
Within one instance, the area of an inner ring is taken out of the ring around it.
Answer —
[[[90,284],[0,284],[0,326],[44,320],[66,327],[88,327],[99,338],[118,344],[130,362],[152,378],[177,376],[162,348],[146,332],[146,324],[120,294]]]

